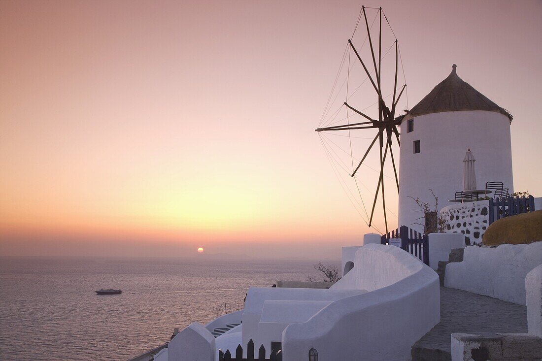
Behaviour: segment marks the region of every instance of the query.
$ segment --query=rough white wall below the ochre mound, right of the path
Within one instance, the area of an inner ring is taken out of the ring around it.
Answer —
[[[444,286],[525,305],[525,276],[542,262],[542,242],[465,247],[446,265]]]

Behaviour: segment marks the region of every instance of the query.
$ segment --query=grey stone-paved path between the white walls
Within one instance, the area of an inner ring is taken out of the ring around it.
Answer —
[[[412,346],[412,360],[451,360],[450,334],[454,332],[526,333],[527,308],[441,287],[441,321]]]

